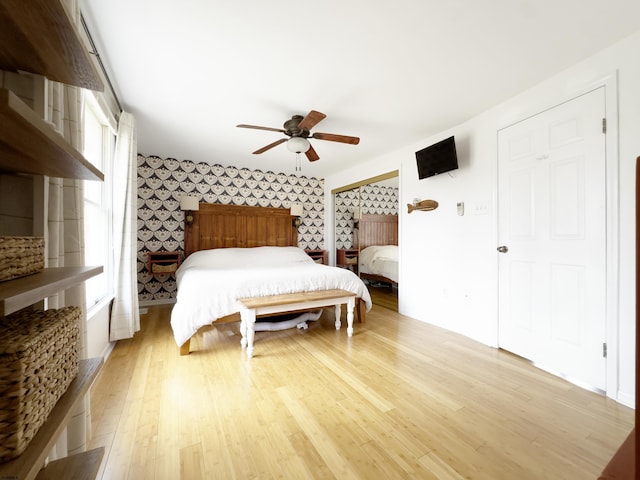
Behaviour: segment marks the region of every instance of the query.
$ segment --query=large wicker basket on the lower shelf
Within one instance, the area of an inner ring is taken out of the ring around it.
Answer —
[[[78,375],[80,309],[0,317],[0,462],[19,456]]]

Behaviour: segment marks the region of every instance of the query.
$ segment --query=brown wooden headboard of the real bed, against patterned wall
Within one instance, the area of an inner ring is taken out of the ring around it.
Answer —
[[[210,248],[297,246],[288,208],[201,203],[185,226],[184,255]]]

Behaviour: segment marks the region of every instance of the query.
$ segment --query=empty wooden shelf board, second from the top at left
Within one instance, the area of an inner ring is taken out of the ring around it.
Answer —
[[[100,170],[5,88],[0,89],[0,170],[104,180]]]

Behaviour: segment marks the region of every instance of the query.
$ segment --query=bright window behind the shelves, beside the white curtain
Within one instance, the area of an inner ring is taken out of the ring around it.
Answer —
[[[84,181],[84,259],[102,265],[102,274],[86,284],[87,310],[113,295],[111,241],[111,165],[115,134],[95,97],[85,94],[83,155],[104,174],[104,182]]]

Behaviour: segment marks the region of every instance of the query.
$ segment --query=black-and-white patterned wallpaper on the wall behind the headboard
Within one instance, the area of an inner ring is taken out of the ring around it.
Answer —
[[[180,197],[200,202],[289,208],[301,203],[298,245],[324,249],[324,180],[190,160],[138,155],[138,298],[175,298],[173,275],[150,275],[147,252],[184,250]]]

